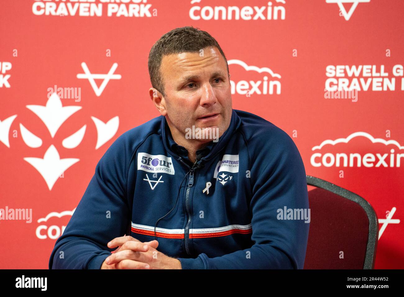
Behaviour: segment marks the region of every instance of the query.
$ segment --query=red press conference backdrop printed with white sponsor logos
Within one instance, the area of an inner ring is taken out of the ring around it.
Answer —
[[[375,268],[404,268],[403,11],[401,0],[2,0],[0,268],[48,267],[107,148],[160,115],[147,57],[187,25],[223,48],[234,109],[286,131],[307,175],[372,204]]]

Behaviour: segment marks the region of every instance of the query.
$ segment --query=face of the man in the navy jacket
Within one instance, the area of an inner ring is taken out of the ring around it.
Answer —
[[[219,128],[217,137],[223,135],[230,124],[232,103],[226,62],[219,50],[206,47],[200,53],[165,55],[160,71],[166,96],[158,108],[171,133],[185,137],[185,129],[194,125],[202,130]]]

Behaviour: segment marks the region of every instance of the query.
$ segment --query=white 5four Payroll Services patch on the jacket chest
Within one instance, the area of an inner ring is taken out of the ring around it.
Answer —
[[[175,174],[171,157],[164,155],[150,155],[147,153],[137,154],[137,170],[151,173]]]

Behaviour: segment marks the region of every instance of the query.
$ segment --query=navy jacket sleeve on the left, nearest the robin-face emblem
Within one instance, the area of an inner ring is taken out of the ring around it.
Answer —
[[[121,137],[99,160],[95,174],[50,255],[49,269],[100,269],[129,224],[126,152]]]

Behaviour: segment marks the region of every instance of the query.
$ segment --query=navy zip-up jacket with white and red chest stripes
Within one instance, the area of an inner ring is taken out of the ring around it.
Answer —
[[[305,168],[289,135],[232,110],[219,140],[197,151],[194,164],[187,155],[164,116],[118,137],[56,241],[49,269],[99,269],[116,249],[107,243],[125,234],[156,238],[158,251],[183,269],[303,268],[309,220],[282,213],[309,208]]]

